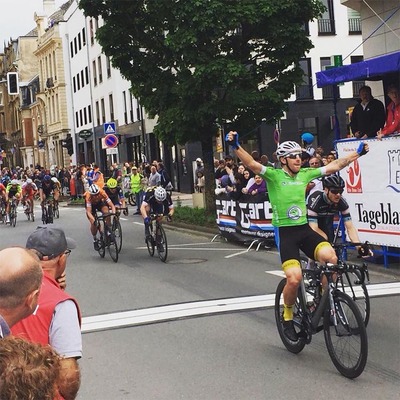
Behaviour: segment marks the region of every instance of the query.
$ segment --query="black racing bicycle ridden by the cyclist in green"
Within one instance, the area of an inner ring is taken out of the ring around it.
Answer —
[[[316,265],[302,269],[293,322],[298,340],[286,337],[283,327],[283,289],[286,278],[279,282],[275,296],[275,320],[279,336],[292,353],[300,353],[312,336],[324,331],[325,344],[336,369],[345,377],[357,378],[365,368],[368,358],[368,339],[363,317],[353,299],[342,292],[334,281],[345,271],[355,270],[352,264]],[[328,285],[322,287],[322,277]]]

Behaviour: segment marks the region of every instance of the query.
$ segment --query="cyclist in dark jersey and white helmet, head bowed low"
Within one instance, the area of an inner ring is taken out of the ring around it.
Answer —
[[[174,204],[171,196],[162,186],[147,189],[140,206],[140,213],[144,221],[144,233],[146,239],[148,239],[150,236],[150,214],[156,214],[158,222],[162,221],[164,215],[167,215],[169,221],[172,219]]]

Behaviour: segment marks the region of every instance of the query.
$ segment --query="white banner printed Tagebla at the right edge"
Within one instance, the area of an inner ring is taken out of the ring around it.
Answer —
[[[341,170],[343,193],[361,241],[400,247],[400,136],[368,139],[369,153]],[[338,156],[357,149],[360,140],[336,143]]]

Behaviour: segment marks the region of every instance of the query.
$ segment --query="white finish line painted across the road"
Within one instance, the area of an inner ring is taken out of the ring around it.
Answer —
[[[272,271],[274,272],[274,271]],[[400,282],[368,285],[370,297],[394,296],[400,294]],[[82,333],[97,332],[112,328],[147,325],[173,321],[182,318],[231,313],[246,310],[273,308],[275,293],[267,295],[195,301],[138,310],[84,317]]]

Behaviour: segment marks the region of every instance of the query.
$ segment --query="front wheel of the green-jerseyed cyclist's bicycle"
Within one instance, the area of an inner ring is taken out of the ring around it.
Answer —
[[[358,306],[345,293],[333,294],[336,325],[329,310],[324,315],[324,336],[329,356],[346,378],[357,378],[368,358],[368,339]]]

